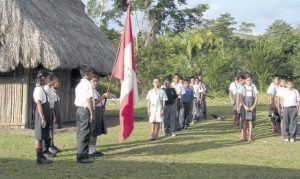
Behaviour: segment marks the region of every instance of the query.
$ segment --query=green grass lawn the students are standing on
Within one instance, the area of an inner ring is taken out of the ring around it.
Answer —
[[[118,125],[108,118],[108,135],[100,136],[97,148],[105,156],[94,163],[75,162],[76,131],[55,134],[61,149],[54,163],[35,163],[33,131],[0,129],[0,178],[300,178],[300,141],[285,143],[272,134],[265,96],[257,108],[255,141],[239,142],[228,100],[208,101],[209,114],[222,114],[225,121],[208,119],[176,137],[150,142],[145,102],[136,108],[131,137],[118,144]],[[117,106],[108,106],[116,115]]]

